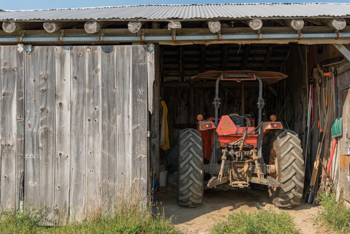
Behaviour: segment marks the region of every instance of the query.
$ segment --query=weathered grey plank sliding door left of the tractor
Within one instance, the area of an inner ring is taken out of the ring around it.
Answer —
[[[1,47],[1,207],[42,206],[44,225],[146,196],[145,46]],[[154,74],[154,73],[153,73]]]

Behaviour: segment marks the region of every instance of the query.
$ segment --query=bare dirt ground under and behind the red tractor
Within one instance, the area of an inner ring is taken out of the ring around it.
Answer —
[[[207,234],[212,224],[225,219],[230,213],[240,209],[255,211],[275,208],[268,196],[268,192],[255,192],[250,188],[235,189],[231,191],[204,191],[202,206],[200,208],[180,207],[176,201],[176,191],[163,191],[156,194],[158,207],[164,210],[167,218],[173,217],[175,226],[184,233]],[[294,216],[296,227],[302,234],[317,233],[319,225],[315,225],[313,215],[320,208],[301,204],[294,209],[284,209]]]

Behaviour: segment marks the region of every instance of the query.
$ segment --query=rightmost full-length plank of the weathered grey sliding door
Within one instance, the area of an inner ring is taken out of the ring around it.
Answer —
[[[147,58],[142,46],[132,46],[132,186],[147,195]]]

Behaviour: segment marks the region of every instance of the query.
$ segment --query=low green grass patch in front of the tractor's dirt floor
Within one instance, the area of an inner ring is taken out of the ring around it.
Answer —
[[[295,229],[293,217],[287,212],[270,210],[230,214],[222,222],[211,228],[211,234],[299,234]]]

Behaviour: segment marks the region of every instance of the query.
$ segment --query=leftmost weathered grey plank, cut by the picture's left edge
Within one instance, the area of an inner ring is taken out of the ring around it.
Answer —
[[[1,208],[15,207],[17,46],[1,48]]]

